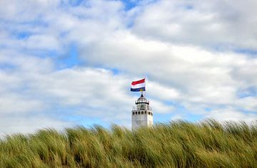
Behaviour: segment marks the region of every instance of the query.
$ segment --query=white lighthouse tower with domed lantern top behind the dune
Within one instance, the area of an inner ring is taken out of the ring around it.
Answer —
[[[132,118],[132,130],[136,130],[138,127],[151,127],[153,125],[153,112],[151,107],[149,107],[149,101],[143,97],[136,100],[136,107],[133,107],[131,111]]]

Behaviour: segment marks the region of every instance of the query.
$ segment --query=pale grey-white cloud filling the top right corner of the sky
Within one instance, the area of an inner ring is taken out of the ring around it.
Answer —
[[[253,0],[156,1],[143,6],[132,30],[168,43],[256,51],[256,5]]]

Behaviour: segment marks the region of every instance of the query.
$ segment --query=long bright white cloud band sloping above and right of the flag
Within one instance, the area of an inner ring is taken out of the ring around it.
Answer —
[[[244,82],[256,83],[253,78],[246,81],[247,75],[255,74],[254,70],[245,70],[245,67],[256,64],[256,58],[238,53],[213,53],[195,46],[146,41],[128,32],[104,38],[82,53],[92,65],[101,64],[132,74],[149,74],[151,80],[172,87],[166,90],[171,93],[163,94],[166,99],[171,95],[170,100],[180,98],[191,103],[228,105],[236,100],[237,90],[246,86]],[[242,78],[238,78],[240,73],[245,73]],[[165,87],[159,87],[162,88],[155,87],[150,93],[156,95],[158,91],[165,90]]]

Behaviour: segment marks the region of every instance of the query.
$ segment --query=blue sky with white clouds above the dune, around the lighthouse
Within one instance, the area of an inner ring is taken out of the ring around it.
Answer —
[[[1,0],[0,135],[257,120],[256,0]]]

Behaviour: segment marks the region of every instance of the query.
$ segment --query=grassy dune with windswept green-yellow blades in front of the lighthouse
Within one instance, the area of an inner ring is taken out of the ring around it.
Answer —
[[[0,167],[257,167],[257,124],[183,121],[39,130],[0,142]]]

